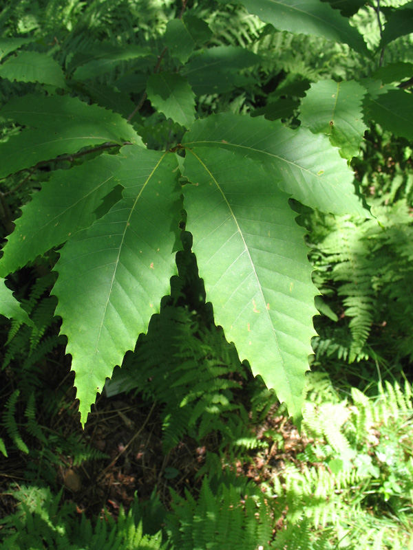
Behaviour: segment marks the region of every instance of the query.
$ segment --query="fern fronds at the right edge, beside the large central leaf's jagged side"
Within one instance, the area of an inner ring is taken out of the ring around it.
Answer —
[[[325,217],[324,226],[321,221],[313,234],[314,241],[319,240],[314,256],[319,267],[316,284],[330,300],[336,293],[336,307],[344,310],[337,328],[328,325],[325,334],[319,331],[317,358],[324,354],[336,354],[349,362],[366,358],[366,344],[374,342],[376,333],[399,355],[413,355],[412,217],[404,200],[377,206],[374,212],[381,225],[372,220]],[[347,319],[350,342],[345,340],[343,327]]]

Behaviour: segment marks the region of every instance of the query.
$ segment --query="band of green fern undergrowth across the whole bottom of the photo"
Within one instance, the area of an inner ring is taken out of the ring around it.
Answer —
[[[17,511],[1,521],[6,549],[221,549],[259,547],[402,550],[413,544],[413,441],[410,384],[377,387],[375,397],[352,388],[343,399],[327,375],[313,373],[304,405],[299,454],[283,453],[279,431],[255,437],[255,451],[208,453],[202,485],[169,509],[156,493],[136,496],[129,511],[86,520],[74,503],[43,485],[12,489]],[[275,404],[275,399],[273,403]],[[253,406],[255,417],[259,414]],[[169,410],[171,425],[178,410]],[[224,412],[230,421],[237,412]],[[251,415],[253,416],[253,415]],[[200,423],[198,423],[200,426]],[[217,437],[222,436],[217,422]],[[164,429],[168,441],[168,427]],[[253,435],[255,433],[255,435]],[[196,434],[195,434],[196,435]],[[268,461],[262,478],[237,474],[238,463],[265,456],[276,443],[282,465]],[[248,454],[250,459],[248,459]],[[208,472],[208,473],[206,473]],[[264,479],[265,478],[265,479]],[[10,488],[11,489],[11,488]],[[159,531],[159,532],[158,532]],[[146,533],[146,534],[145,534]]]

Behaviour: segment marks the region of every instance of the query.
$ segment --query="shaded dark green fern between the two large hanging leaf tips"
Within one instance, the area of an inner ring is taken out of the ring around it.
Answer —
[[[246,375],[235,349],[222,331],[208,329],[198,314],[165,306],[152,317],[136,355],[130,354],[116,377],[124,388],[136,386],[162,410],[163,445],[167,452],[184,434],[198,440],[211,432],[231,438],[225,418],[240,408],[234,393]],[[121,386],[122,387],[122,386]],[[248,433],[244,435],[248,437]]]

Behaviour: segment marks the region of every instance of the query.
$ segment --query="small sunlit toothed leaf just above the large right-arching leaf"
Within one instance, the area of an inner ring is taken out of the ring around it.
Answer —
[[[359,153],[367,129],[361,107],[365,95],[366,89],[354,80],[320,80],[302,100],[299,118],[313,133],[326,133],[341,155],[351,159]]]

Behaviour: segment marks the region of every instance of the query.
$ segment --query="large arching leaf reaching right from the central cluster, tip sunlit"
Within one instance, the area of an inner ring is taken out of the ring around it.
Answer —
[[[261,117],[222,113],[194,122],[182,144],[231,149],[264,162],[282,190],[307,206],[371,217],[354,195],[352,170],[326,135],[301,127],[291,130]]]

